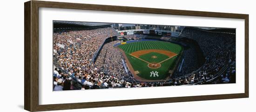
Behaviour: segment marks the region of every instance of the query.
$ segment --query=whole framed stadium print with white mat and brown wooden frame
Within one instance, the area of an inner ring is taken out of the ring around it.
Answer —
[[[28,111],[249,97],[249,15],[25,3]]]

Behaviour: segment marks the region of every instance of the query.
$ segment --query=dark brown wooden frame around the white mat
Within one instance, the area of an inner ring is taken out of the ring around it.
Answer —
[[[249,97],[249,15],[248,14],[214,13],[214,12],[142,8],[142,7],[122,7],[122,6],[92,5],[92,4],[36,1],[36,0],[27,1],[24,3],[24,5],[25,5],[24,7],[24,12],[25,12],[25,15],[24,15],[24,29],[25,29],[24,31],[24,38],[25,38],[24,39],[24,48],[25,48],[24,108],[27,111],[31,111],[31,112],[51,111],[51,110],[62,110],[62,109],[158,104],[158,103],[186,102],[186,101],[200,101],[200,100],[214,100],[214,99],[236,99],[236,98]],[[245,23],[244,23],[245,25],[245,33],[244,33],[245,35],[245,53],[244,53],[245,55],[244,88],[245,90],[244,90],[244,93],[39,105],[39,7],[244,19],[245,20]]]

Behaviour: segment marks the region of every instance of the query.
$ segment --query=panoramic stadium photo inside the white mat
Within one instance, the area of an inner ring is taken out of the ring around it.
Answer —
[[[53,91],[236,83],[235,28],[53,25]]]

